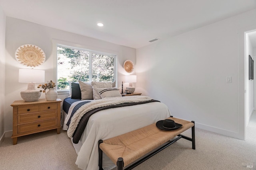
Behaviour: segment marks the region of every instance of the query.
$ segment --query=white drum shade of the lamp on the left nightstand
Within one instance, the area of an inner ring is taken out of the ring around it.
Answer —
[[[19,69],[19,82],[23,83],[42,83],[44,82],[44,70],[37,69]]]

